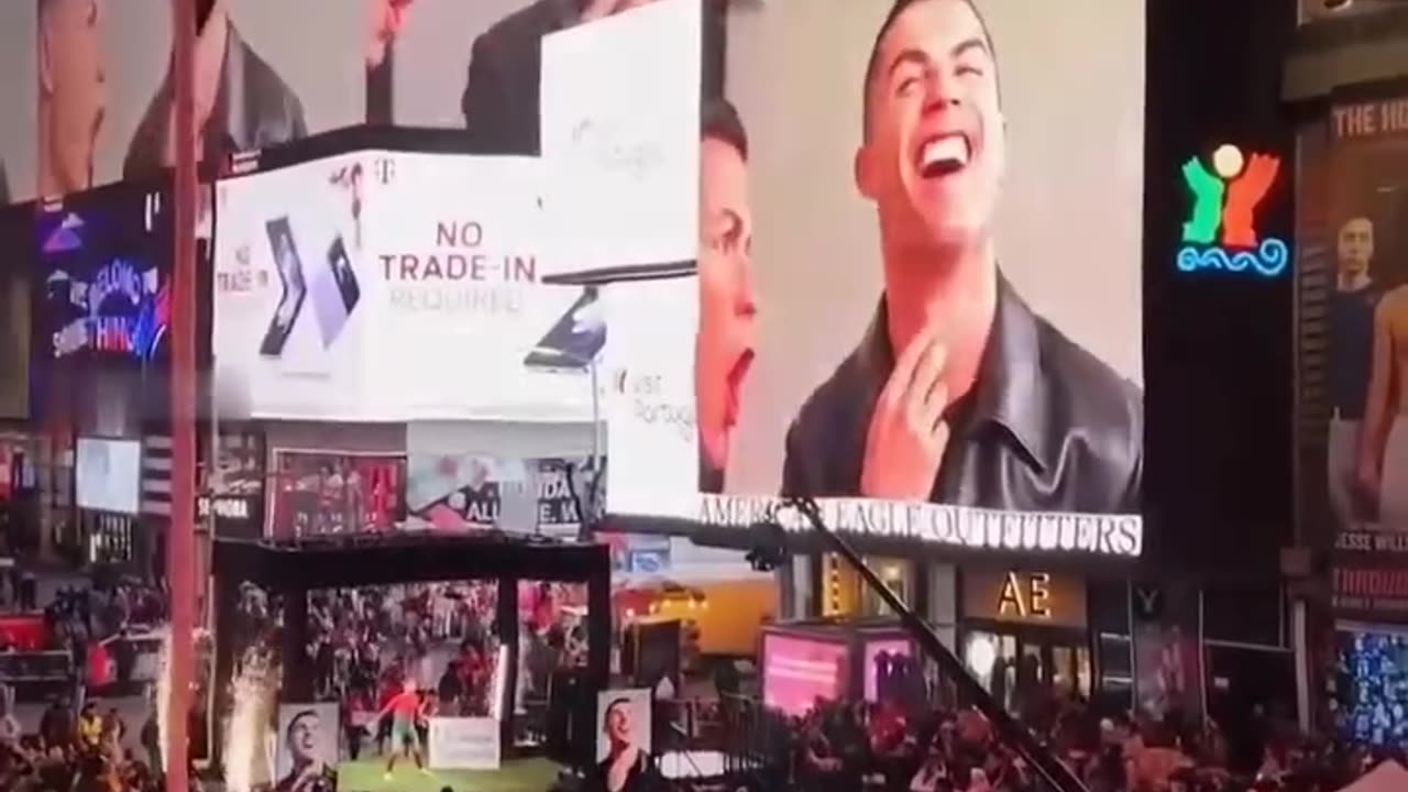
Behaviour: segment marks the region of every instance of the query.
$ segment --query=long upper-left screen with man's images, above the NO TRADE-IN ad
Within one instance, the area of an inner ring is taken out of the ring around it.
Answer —
[[[539,42],[642,6],[574,0],[220,0],[199,13],[199,155],[273,149],[356,124],[465,130],[482,154],[539,154]],[[721,10],[724,3],[710,3]],[[711,14],[714,27],[722,13]],[[172,7],[0,7],[0,202],[172,165]],[[317,47],[310,47],[317,41]],[[703,72],[722,79],[722,35]],[[208,56],[208,58],[207,58]],[[38,118],[54,134],[37,135]]]

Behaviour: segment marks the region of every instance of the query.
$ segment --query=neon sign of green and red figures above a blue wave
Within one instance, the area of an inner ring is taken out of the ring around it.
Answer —
[[[1256,233],[1256,210],[1280,169],[1280,156],[1252,154],[1246,159],[1235,145],[1212,152],[1212,172],[1198,156],[1183,165],[1193,209],[1183,224],[1180,272],[1247,272],[1263,278],[1286,272],[1290,247],[1277,237],[1257,238]]]

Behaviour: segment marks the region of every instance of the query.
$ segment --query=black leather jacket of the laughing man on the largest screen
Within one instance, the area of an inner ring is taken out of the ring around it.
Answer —
[[[793,421],[783,495],[860,493],[870,414],[893,368],[881,300],[860,347]],[[1001,275],[977,385],[950,407],[948,420],[934,503],[1140,512],[1143,393],[1035,316]]]

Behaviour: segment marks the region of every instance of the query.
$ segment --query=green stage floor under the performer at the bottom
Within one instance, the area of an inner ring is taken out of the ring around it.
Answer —
[[[338,792],[548,792],[558,781],[559,765],[548,760],[510,760],[496,771],[442,769],[424,775],[415,762],[397,761],[386,781],[386,761],[377,757],[338,765]]]

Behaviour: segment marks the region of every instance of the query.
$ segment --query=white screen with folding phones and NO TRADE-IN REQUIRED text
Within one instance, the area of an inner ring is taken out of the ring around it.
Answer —
[[[358,152],[221,182],[222,416],[591,417],[605,328],[543,286],[532,158]]]

